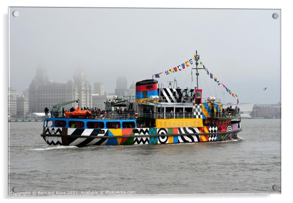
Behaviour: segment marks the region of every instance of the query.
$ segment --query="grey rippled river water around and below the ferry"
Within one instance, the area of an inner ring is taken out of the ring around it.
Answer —
[[[77,148],[47,145],[42,122],[11,122],[8,192],[280,193],[280,124],[242,120],[239,139],[228,142]]]

